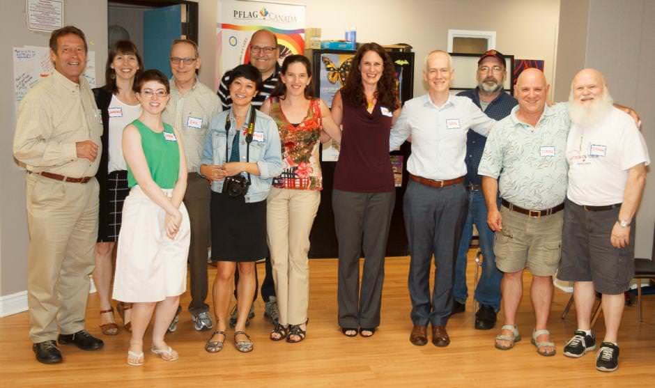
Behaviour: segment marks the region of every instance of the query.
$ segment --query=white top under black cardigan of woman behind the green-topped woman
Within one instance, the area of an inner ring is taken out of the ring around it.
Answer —
[[[127,170],[123,157],[123,130],[141,116],[141,104],[128,105],[111,96],[109,102],[109,165],[107,172]]]

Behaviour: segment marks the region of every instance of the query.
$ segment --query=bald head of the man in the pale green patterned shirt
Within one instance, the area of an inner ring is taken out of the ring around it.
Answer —
[[[521,114],[541,115],[546,106],[548,88],[544,72],[536,68],[523,70],[514,86],[514,97]]]

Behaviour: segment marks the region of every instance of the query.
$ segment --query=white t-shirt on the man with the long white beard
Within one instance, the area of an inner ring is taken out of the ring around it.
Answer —
[[[650,164],[646,142],[634,120],[615,107],[590,127],[571,123],[567,161],[568,198],[590,206],[622,203],[628,170]]]

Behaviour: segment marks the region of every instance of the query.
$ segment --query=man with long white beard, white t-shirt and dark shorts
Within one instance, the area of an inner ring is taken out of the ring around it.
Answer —
[[[596,369],[610,372],[618,367],[623,294],[635,270],[630,232],[650,159],[633,118],[612,106],[598,70],[585,69],[573,78],[569,116],[569,187],[557,277],[574,282],[578,329],[564,355],[582,357],[596,348],[590,318],[596,292],[601,293],[606,333]]]

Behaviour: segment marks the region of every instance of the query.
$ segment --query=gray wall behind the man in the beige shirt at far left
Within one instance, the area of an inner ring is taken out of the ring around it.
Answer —
[[[3,1],[0,25],[0,117],[5,134],[0,141],[0,295],[26,289],[27,222],[25,212],[25,172],[15,164],[12,156],[16,118],[14,111],[12,48],[24,45],[48,45],[49,33],[28,31],[25,1]],[[84,33],[88,49],[95,51],[96,79],[104,77],[107,61],[107,1],[66,0],[64,24],[73,24]]]

